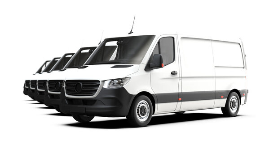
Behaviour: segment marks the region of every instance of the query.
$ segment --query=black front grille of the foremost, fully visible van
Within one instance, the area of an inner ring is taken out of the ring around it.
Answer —
[[[93,96],[100,86],[99,80],[66,80],[66,94],[74,96]]]

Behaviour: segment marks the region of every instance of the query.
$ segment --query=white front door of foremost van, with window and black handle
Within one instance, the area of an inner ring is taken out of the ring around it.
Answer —
[[[176,35],[160,38],[154,47],[150,61],[154,54],[161,54],[163,57],[163,67],[150,70],[151,88],[157,97],[156,113],[171,112],[176,110],[179,100],[180,70]]]

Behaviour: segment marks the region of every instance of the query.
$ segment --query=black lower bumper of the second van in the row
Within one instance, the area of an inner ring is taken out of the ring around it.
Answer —
[[[44,91],[44,104],[46,106],[53,107],[60,106],[60,94],[49,93],[46,86],[46,89]]]

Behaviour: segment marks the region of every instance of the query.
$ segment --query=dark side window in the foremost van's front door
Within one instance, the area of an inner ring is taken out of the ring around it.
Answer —
[[[174,40],[172,37],[160,38],[150,57],[152,61],[154,54],[162,54],[164,66],[174,61]]]

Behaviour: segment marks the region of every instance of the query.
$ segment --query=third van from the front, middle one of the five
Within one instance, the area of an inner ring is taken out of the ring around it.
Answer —
[[[75,53],[67,53],[64,54],[58,61],[57,63],[53,66],[53,68],[48,71],[48,72],[43,72],[39,76],[37,76],[36,80],[36,88],[35,88],[35,100],[41,103],[44,103],[44,90],[46,87],[46,81],[49,79],[51,72],[53,71],[59,71],[61,70],[66,63],[71,59],[71,57]]]

